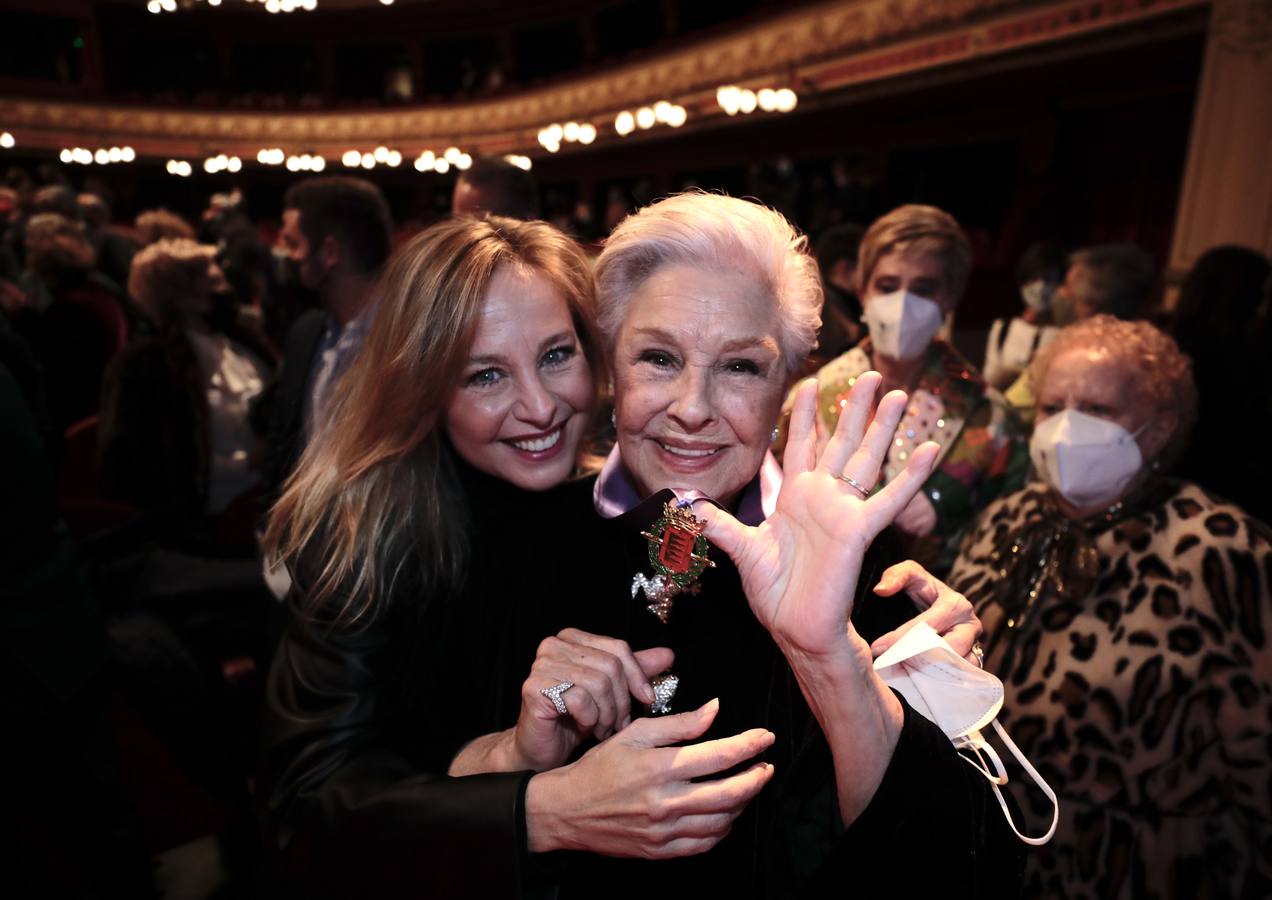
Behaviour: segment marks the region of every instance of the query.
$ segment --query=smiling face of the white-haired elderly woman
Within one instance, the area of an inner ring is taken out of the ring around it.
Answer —
[[[786,388],[772,297],[738,271],[665,266],[628,299],[613,356],[618,446],[637,488],[733,505]]]

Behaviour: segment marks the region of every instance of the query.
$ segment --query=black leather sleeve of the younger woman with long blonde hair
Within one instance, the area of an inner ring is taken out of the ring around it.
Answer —
[[[284,637],[261,772],[275,862],[296,896],[516,896],[532,773],[452,778],[397,741],[393,634],[293,624]]]

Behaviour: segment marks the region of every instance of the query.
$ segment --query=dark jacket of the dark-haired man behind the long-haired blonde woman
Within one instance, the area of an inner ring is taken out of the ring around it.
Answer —
[[[313,309],[296,319],[282,348],[282,365],[254,404],[253,426],[266,439],[262,511],[279,498],[305,449],[305,394],[329,318],[324,310]]]

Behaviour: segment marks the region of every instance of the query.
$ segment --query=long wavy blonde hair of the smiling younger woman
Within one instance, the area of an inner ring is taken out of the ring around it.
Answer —
[[[450,219],[416,235],[389,259],[328,425],[270,515],[265,548],[296,576],[303,615],[340,627],[370,620],[412,567],[431,591],[459,582],[467,503],[443,412],[501,266],[561,291],[600,378],[591,269],[570,238],[547,222],[497,216]]]

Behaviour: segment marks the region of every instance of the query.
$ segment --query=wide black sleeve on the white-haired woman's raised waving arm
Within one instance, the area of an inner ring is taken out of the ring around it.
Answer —
[[[906,704],[892,761],[870,805],[843,826],[829,746],[795,761],[776,840],[777,896],[1020,895],[1024,845],[988,782],[934,723]]]

